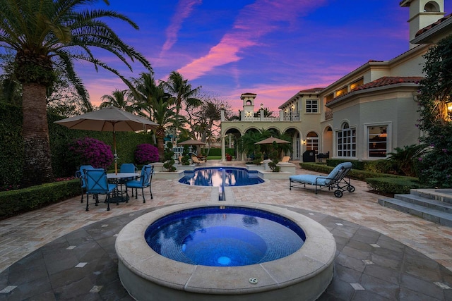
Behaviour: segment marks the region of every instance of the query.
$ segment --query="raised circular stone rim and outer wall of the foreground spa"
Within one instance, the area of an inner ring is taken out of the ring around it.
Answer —
[[[144,214],[127,224],[117,236],[115,248],[119,259],[119,277],[129,294],[141,300],[161,290],[166,296],[169,293],[174,297],[181,297],[184,293],[208,294],[206,300],[213,300],[213,295],[224,297],[260,293],[261,297],[266,296],[263,300],[271,300],[275,295],[269,294],[269,291],[285,289],[294,296],[304,296],[303,300],[315,300],[327,288],[333,277],[336,251],[333,235],[320,223],[288,209],[246,202],[227,204],[270,211],[294,221],[303,229],[307,237],[303,247],[272,262],[233,267],[191,265],[162,257],[145,242],[145,229],[167,214],[218,206],[211,202],[177,204]],[[257,283],[250,283],[250,278],[256,278]],[[319,291],[314,288],[319,288]]]

